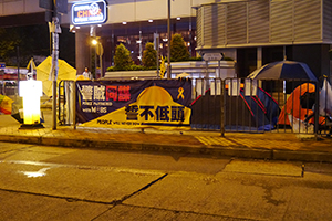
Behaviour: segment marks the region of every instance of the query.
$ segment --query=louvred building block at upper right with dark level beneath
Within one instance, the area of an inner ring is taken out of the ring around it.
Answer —
[[[197,10],[199,53],[236,57],[238,75],[284,59],[330,75],[332,1],[248,0],[201,4]]]

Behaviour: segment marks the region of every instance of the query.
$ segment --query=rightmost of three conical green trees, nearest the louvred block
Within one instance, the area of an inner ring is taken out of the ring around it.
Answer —
[[[183,35],[174,34],[170,40],[170,60],[178,61],[188,61],[190,57],[189,51],[185,45]]]

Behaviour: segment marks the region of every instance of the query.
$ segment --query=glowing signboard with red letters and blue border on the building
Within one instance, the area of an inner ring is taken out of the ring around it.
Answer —
[[[107,21],[106,2],[92,1],[80,2],[72,6],[72,23],[80,24],[100,24]]]

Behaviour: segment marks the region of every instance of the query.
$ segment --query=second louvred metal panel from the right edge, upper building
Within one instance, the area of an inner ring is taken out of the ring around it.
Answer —
[[[294,0],[294,41],[321,40],[321,0]]]

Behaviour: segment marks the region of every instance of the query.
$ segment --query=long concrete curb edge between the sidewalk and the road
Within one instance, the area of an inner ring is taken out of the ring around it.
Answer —
[[[238,157],[255,159],[273,159],[273,160],[297,160],[297,161],[315,161],[332,162],[332,152],[322,151],[292,151],[292,150],[273,150],[258,149],[247,147],[221,147],[205,145],[164,145],[148,143],[120,143],[114,140],[95,140],[95,139],[71,139],[49,136],[22,136],[22,135],[0,135],[0,141],[22,143],[44,146],[62,146],[77,148],[113,149],[113,150],[144,150],[160,152],[181,152],[210,155],[216,157]]]

